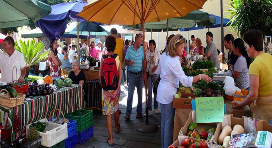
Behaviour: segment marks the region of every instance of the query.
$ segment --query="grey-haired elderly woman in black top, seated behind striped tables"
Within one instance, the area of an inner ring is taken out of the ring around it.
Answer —
[[[69,73],[68,77],[73,81],[73,84],[84,84],[86,80],[85,74],[80,70],[80,63],[76,60],[72,64],[72,71]]]

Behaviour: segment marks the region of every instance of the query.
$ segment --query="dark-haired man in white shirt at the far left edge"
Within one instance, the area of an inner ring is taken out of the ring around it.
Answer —
[[[0,53],[0,69],[2,73],[1,81],[11,83],[12,82],[12,69],[13,71],[13,80],[18,80],[19,83],[23,82],[23,78],[25,77],[25,59],[23,54],[14,49],[14,40],[12,37],[6,37],[3,43],[3,48],[5,52]],[[18,77],[17,77],[17,76]]]

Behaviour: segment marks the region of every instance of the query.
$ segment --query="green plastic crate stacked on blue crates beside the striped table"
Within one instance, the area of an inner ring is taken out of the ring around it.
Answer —
[[[90,126],[94,124],[93,112],[90,110],[80,109],[72,113],[66,114],[65,117],[67,119],[72,119],[77,121],[76,131],[79,131],[79,132],[82,132],[88,129]]]

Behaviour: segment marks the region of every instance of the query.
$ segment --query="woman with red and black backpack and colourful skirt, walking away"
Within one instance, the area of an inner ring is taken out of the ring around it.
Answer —
[[[100,84],[103,88],[102,111],[107,119],[109,131],[107,143],[109,146],[113,146],[112,114],[114,114],[115,120],[115,133],[118,133],[121,128],[119,123],[119,97],[123,71],[119,56],[114,53],[115,47],[115,37],[109,36],[106,39],[108,53],[102,56],[99,69]]]

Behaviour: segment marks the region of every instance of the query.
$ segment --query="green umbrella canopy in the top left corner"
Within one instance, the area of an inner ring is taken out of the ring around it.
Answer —
[[[36,22],[51,12],[51,6],[38,0],[0,0],[0,28]]]

